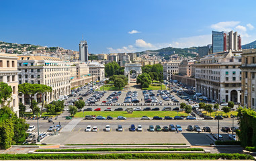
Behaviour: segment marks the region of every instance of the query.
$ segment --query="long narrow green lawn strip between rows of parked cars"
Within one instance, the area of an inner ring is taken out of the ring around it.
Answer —
[[[101,110],[104,110],[107,107],[101,107]],[[112,108],[114,110],[114,108]],[[112,117],[118,117],[120,115],[128,118],[128,117],[142,117],[144,115],[148,117],[154,117],[154,116],[159,116],[159,117],[165,117],[165,116],[170,116],[170,117],[175,117],[176,115],[187,115],[185,112],[179,112],[177,114],[176,111],[133,111],[133,113],[127,113],[126,111],[85,111],[85,112],[79,112],[75,114],[75,117],[84,117],[85,115],[101,115],[103,117],[107,117],[108,115]]]

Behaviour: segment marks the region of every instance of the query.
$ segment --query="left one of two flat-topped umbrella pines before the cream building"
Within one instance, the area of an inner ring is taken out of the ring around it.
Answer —
[[[23,93],[24,95],[28,95],[30,97],[30,109],[32,109],[34,113],[34,107],[32,104],[33,96],[40,92],[41,86],[40,84],[30,84],[30,83],[23,83],[19,85],[19,92]]]

